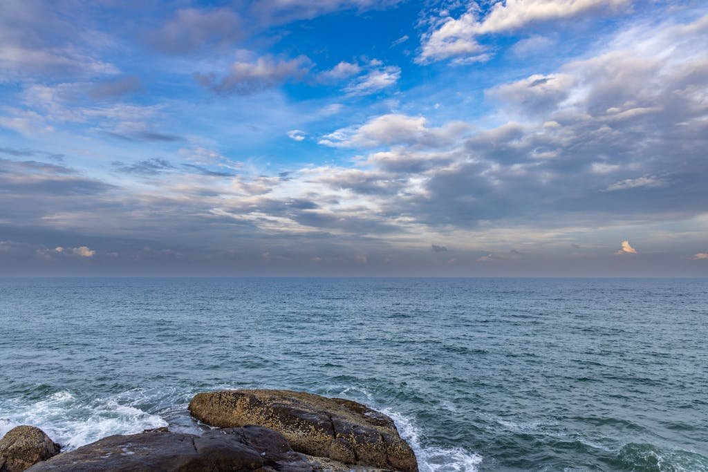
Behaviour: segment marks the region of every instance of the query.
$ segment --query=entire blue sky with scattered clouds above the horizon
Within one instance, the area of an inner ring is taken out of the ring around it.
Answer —
[[[2,276],[708,276],[702,0],[0,8]]]

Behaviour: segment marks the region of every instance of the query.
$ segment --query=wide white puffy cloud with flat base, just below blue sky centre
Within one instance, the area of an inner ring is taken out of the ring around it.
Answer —
[[[372,118],[359,127],[337,129],[322,137],[319,144],[333,147],[378,147],[394,144],[442,147],[455,142],[468,129],[469,125],[464,122],[428,127],[426,117],[390,113]]]

